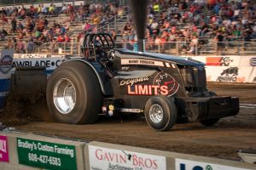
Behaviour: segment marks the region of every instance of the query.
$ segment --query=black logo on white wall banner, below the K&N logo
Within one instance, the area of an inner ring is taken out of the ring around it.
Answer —
[[[230,67],[220,73],[217,82],[245,82],[246,77],[238,77],[238,67]]]

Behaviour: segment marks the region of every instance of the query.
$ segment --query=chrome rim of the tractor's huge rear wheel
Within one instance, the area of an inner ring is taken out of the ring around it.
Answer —
[[[73,111],[76,104],[76,89],[67,78],[61,78],[56,84],[53,93],[55,108],[62,114]]]

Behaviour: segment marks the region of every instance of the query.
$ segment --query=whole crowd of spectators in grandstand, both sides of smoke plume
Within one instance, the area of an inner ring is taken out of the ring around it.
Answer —
[[[8,30],[0,29],[0,41],[8,41],[11,46],[16,42],[17,52],[30,52],[35,45],[44,42],[71,42],[72,25],[81,23],[84,31],[98,31],[113,20],[115,15],[122,16],[128,6],[118,3],[90,3],[73,6],[63,3],[62,7],[43,4],[30,8],[3,8],[1,23],[9,25]],[[67,20],[52,21],[52,17],[65,14]],[[223,42],[245,41],[256,38],[256,1],[253,0],[151,0],[148,14],[146,48],[165,42],[182,42],[180,50],[184,54],[195,54],[199,44],[209,39],[218,42],[218,48],[224,48]],[[113,38],[120,34],[124,41],[137,40],[132,20],[119,31],[110,32]],[[16,35],[7,38],[8,35]],[[26,44],[24,42],[27,42]],[[170,43],[171,48],[175,43]]]

